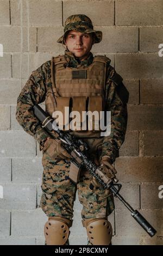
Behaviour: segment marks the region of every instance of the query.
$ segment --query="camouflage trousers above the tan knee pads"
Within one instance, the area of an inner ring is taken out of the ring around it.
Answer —
[[[114,210],[114,199],[109,190],[98,187],[90,190],[92,175],[82,169],[80,180],[74,184],[68,179],[70,161],[52,160],[47,153],[42,157],[41,208],[50,217],[60,216],[72,220],[73,204],[78,191],[79,202],[83,205],[82,218],[105,218]],[[67,241],[68,244],[68,241]]]

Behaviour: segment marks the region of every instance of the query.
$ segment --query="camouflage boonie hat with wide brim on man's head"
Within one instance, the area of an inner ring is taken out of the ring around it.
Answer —
[[[64,39],[67,31],[79,31],[84,34],[94,33],[95,34],[95,44],[101,42],[102,32],[95,31],[93,29],[92,21],[89,17],[84,14],[71,15],[65,21],[64,34],[57,40],[61,44],[65,45]]]

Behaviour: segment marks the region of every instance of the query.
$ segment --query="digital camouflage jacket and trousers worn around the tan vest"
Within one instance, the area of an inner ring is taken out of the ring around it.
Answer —
[[[65,57],[68,65],[72,68],[89,66],[94,58],[90,52],[89,57],[80,62],[68,50],[65,51]],[[98,159],[103,155],[109,156],[111,163],[114,163],[115,158],[118,157],[118,150],[124,141],[127,126],[126,103],[128,96],[123,83],[117,84],[116,79],[114,79],[115,74],[116,71],[108,62],[105,100],[106,109],[111,111],[111,134],[104,137],[101,150],[94,152],[94,156],[97,156]],[[48,60],[30,75],[18,96],[16,109],[18,123],[24,131],[34,136],[40,145],[40,150],[43,151],[41,208],[47,216],[61,216],[72,220],[73,203],[78,190],[79,201],[83,205],[82,218],[105,218],[114,210],[112,194],[102,187],[96,187],[91,191],[89,186],[92,175],[85,168],[82,169],[77,185],[73,184],[68,179],[70,159],[60,159],[59,157],[51,159],[47,151],[43,150],[43,144],[49,135],[34,116],[32,108],[34,104],[45,101],[46,92],[52,86],[50,78],[51,60]],[[87,139],[86,142],[92,143],[92,139]],[[66,244],[68,244],[68,240]]]

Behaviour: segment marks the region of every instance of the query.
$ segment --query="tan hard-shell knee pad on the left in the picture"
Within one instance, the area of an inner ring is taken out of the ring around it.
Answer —
[[[72,221],[62,217],[49,217],[45,223],[46,245],[64,245],[70,234]]]

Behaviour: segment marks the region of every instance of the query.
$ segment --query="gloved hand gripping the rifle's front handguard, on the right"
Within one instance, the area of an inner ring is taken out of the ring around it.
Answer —
[[[97,173],[101,176],[101,174],[105,175],[105,181],[108,183],[110,180],[113,180],[114,182],[117,182],[116,178],[116,169],[112,166],[110,158],[108,156],[102,156],[101,160],[98,162],[97,159],[94,160],[97,166],[99,166],[99,172],[97,170]],[[93,176],[90,184],[90,190],[93,190],[95,188],[100,187],[101,184],[96,180],[96,178]]]

